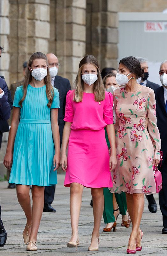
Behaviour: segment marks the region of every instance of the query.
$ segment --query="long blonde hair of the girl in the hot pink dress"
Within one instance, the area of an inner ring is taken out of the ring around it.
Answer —
[[[76,80],[74,82],[75,84],[75,95],[74,95],[74,101],[75,102],[81,102],[83,97],[83,80],[81,79],[82,76],[82,69],[85,64],[92,64],[97,68],[97,76],[98,79],[94,83],[93,87],[93,93],[95,95],[95,101],[102,101],[105,99],[105,88],[103,85],[102,77],[100,74],[99,64],[98,60],[93,55],[87,55],[83,57],[83,59],[79,63],[79,70],[78,75],[76,77]]]

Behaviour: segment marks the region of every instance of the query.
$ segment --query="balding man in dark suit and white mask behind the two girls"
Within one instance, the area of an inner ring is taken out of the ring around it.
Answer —
[[[56,87],[59,91],[60,97],[60,108],[58,111],[58,125],[59,125],[59,133],[60,133],[60,146],[62,144],[62,134],[64,129],[64,114],[65,114],[65,106],[66,106],[66,95],[67,92],[71,89],[71,85],[68,79],[63,78],[61,76],[57,76],[59,61],[58,58],[53,53],[47,54],[48,66],[51,75],[51,82],[54,87]],[[54,200],[55,193],[55,185],[45,187],[44,193],[44,212],[56,212],[56,210],[51,206]]]

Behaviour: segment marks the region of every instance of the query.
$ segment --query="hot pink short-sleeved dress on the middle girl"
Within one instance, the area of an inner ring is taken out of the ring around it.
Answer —
[[[112,187],[109,152],[104,127],[113,124],[113,96],[94,100],[83,92],[82,102],[74,102],[74,90],[67,93],[64,121],[71,122],[64,186],[76,182],[88,188]]]

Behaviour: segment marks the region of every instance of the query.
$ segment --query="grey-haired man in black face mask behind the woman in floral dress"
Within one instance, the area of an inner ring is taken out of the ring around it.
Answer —
[[[142,81],[140,81],[140,84],[143,86],[147,86],[153,90],[159,88],[159,84],[155,84],[153,82],[150,82],[147,80],[147,78],[149,77],[149,67],[148,67],[148,60],[142,57],[137,58],[140,62],[141,68],[144,69],[144,77],[142,78]],[[157,204],[156,201],[154,199],[153,195],[146,195],[146,198],[148,200],[148,208],[149,211],[152,213],[156,213],[157,212]]]

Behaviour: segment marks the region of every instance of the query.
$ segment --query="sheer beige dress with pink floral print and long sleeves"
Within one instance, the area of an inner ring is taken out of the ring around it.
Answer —
[[[112,193],[156,193],[152,162],[161,159],[161,140],[154,91],[141,86],[136,92],[126,92],[124,86],[113,97],[118,164],[109,189]]]

